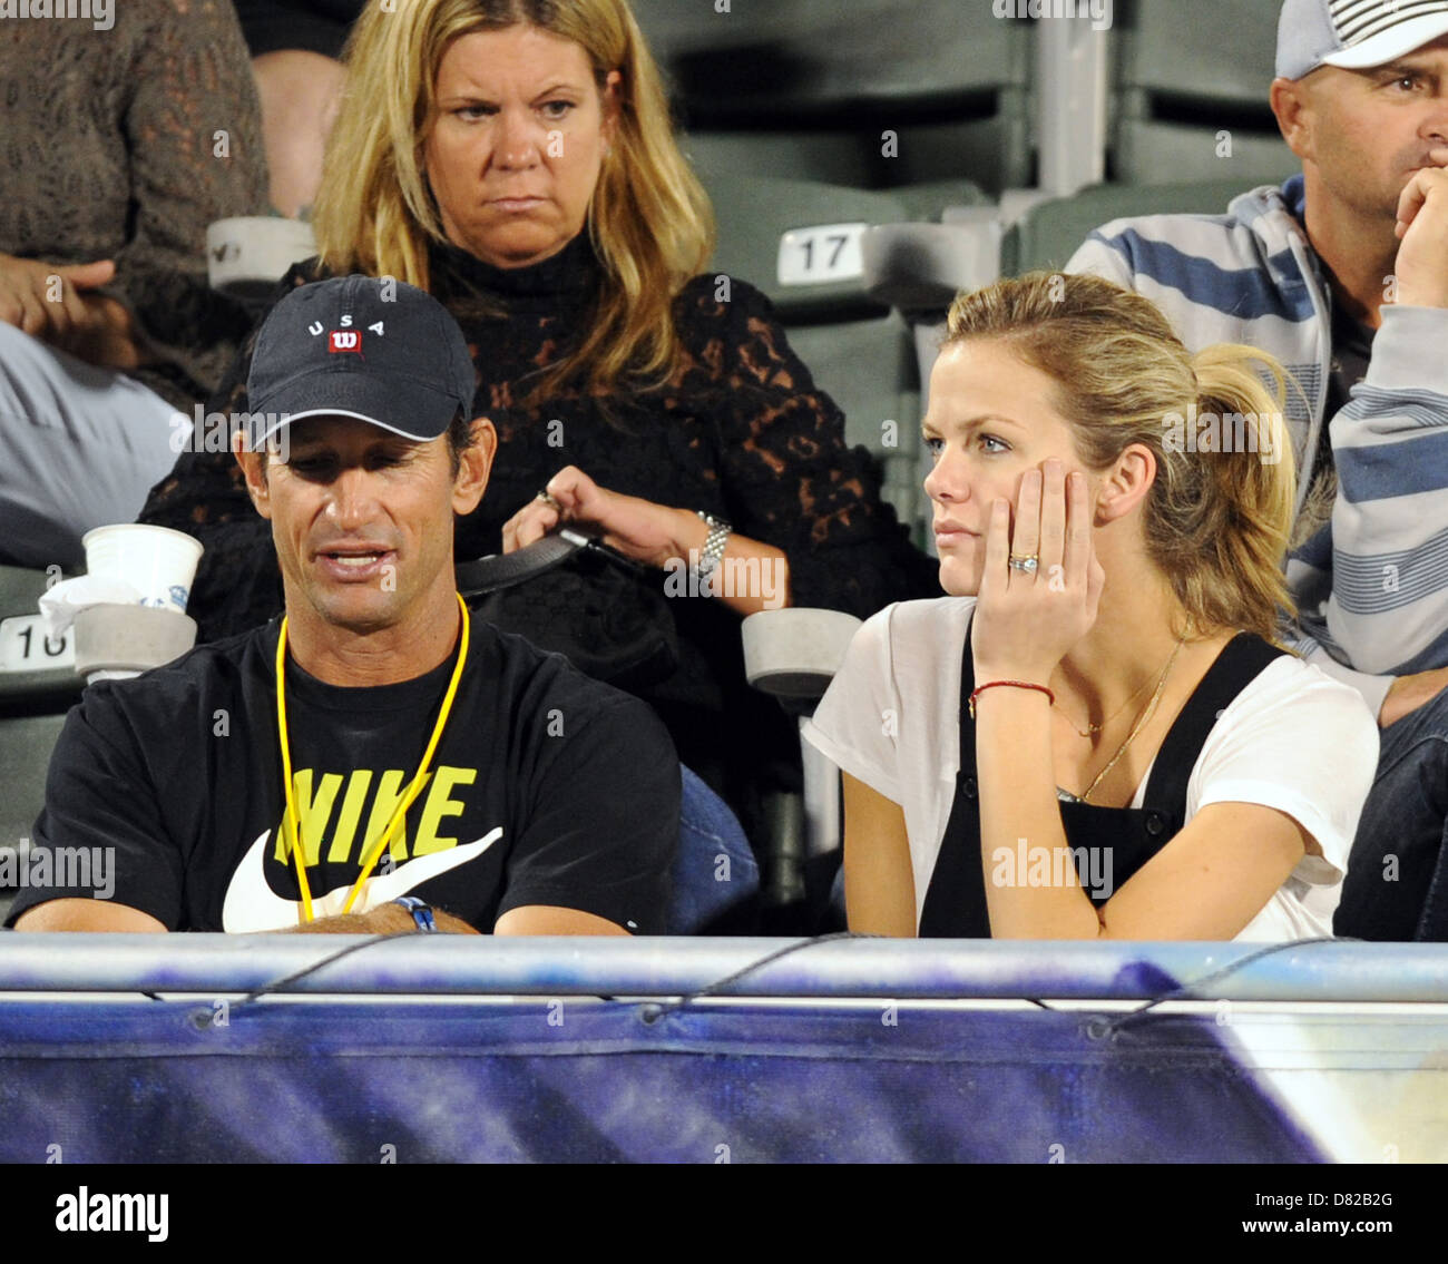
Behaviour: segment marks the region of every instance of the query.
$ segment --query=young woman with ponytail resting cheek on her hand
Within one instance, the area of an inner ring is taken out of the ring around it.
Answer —
[[[953,595],[872,618],[807,727],[851,930],[1331,934],[1377,728],[1274,644],[1283,384],[1095,277],[957,298],[924,423]]]

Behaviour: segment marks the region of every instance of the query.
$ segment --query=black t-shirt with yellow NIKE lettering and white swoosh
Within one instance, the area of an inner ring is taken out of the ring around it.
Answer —
[[[93,872],[113,882],[110,899],[174,931],[295,927],[278,628],[274,620],[88,688],[55,747],[32,848],[114,848],[91,853]],[[411,893],[484,932],[508,909],[557,905],[660,934],[681,786],[663,724],[520,637],[478,618],[471,636],[427,780],[352,912]],[[455,666],[456,652],[413,681],[340,688],[288,660],[292,785],[316,917],[342,912],[363,848],[411,785]],[[30,885],[7,922],[48,899],[94,895]]]

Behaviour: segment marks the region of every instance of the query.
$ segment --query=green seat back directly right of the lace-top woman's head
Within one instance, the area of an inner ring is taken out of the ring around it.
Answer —
[[[705,0],[634,0],[633,10],[698,161],[854,188],[1030,181],[1030,23],[1001,20],[989,3],[730,0],[720,13]]]

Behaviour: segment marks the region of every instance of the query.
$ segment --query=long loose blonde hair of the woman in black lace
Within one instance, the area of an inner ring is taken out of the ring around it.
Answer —
[[[578,43],[599,90],[610,71],[621,77],[618,132],[586,223],[604,284],[582,340],[544,385],[607,394],[626,375],[665,381],[682,361],[673,298],[714,252],[714,214],[673,140],[659,68],[626,0],[371,0],[343,54],[346,88],[313,210],[321,264],[429,288],[427,245],[446,240],[423,162],[437,69],[459,36],[520,23]]]

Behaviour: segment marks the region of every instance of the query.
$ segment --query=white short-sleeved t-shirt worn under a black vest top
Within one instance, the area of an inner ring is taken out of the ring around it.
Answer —
[[[973,608],[973,597],[944,597],[873,615],[804,725],[812,746],[904,809],[917,928],[956,798],[960,657]],[[1192,767],[1186,820],[1209,804],[1264,804],[1322,848],[1297,861],[1238,940],[1332,934],[1376,769],[1377,724],[1361,695],[1302,659],[1274,659],[1222,711]],[[1148,767],[1132,808],[1141,806],[1150,778]]]

